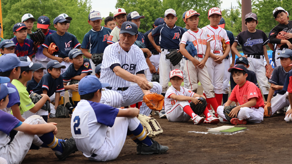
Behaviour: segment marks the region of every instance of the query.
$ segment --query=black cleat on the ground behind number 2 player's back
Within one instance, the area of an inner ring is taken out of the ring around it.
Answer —
[[[78,151],[76,147],[76,143],[73,137],[71,137],[66,142],[60,142],[63,148],[63,153],[61,155],[55,155],[58,157],[59,160],[65,160],[70,154]]]

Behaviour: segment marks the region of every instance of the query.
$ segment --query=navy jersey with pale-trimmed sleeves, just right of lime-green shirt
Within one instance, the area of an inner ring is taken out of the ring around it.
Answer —
[[[47,90],[47,94],[51,97],[55,92],[65,91],[63,85],[63,76],[60,75],[58,78],[54,79],[50,73],[46,73],[39,81],[37,88],[33,91],[37,94],[42,94],[43,90]]]

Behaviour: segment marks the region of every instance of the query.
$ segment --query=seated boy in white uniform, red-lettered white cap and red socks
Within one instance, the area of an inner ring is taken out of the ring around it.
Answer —
[[[183,82],[183,72],[181,70],[175,69],[172,70],[169,74],[169,79],[171,86],[165,93],[164,106],[166,117],[171,122],[187,122],[192,119],[194,124],[218,124],[219,119],[214,118],[207,108],[203,110],[203,114],[206,116],[204,120],[203,117],[200,117],[202,113],[194,113],[190,107],[188,101],[193,102],[194,104],[201,103],[198,100],[199,97],[205,98],[203,95],[194,93],[186,88],[181,87]],[[198,114],[198,115],[197,115]]]

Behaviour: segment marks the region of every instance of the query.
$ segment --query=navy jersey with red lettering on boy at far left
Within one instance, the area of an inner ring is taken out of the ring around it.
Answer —
[[[15,46],[15,54],[20,56],[33,56],[34,55],[34,41],[31,39],[24,39],[22,45],[20,45],[17,41],[17,37],[13,37],[10,39],[14,42]]]

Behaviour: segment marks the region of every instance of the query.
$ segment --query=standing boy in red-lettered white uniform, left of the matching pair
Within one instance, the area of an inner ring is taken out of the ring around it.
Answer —
[[[188,89],[196,93],[199,80],[205,91],[207,103],[211,104],[214,109],[217,109],[218,104],[215,99],[214,87],[211,83],[207,67],[205,67],[205,63],[210,55],[210,41],[213,38],[211,36],[207,37],[206,33],[198,28],[199,16],[200,14],[193,9],[186,12],[185,24],[190,29],[183,34],[180,52],[187,58],[184,71],[189,80]],[[197,55],[188,53],[185,49],[187,42],[195,46]]]

